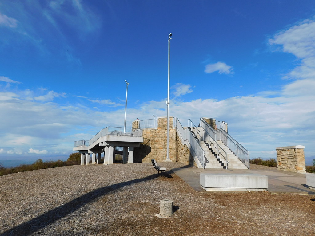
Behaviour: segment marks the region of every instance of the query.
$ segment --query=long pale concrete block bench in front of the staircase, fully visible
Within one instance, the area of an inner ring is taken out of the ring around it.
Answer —
[[[259,174],[200,174],[200,185],[207,191],[266,191],[268,177]]]

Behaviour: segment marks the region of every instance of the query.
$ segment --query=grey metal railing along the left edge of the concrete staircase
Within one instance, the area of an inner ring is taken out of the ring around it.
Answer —
[[[180,124],[180,121],[177,119],[177,117],[175,118],[175,120],[178,132],[180,133],[181,137],[184,140],[188,141],[192,149],[190,151],[195,153],[195,156],[197,156],[198,160],[200,161],[200,164],[203,166],[204,169],[206,166],[205,152],[203,151],[202,147],[200,146],[196,138],[192,135],[192,132],[190,132],[190,130],[187,128],[184,129],[183,126]]]

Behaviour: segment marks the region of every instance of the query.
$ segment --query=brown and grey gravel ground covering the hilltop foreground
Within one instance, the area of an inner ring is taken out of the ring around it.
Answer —
[[[173,216],[155,216],[161,199],[173,200]],[[196,192],[151,163],[1,176],[0,213],[0,236],[315,235],[314,195]]]

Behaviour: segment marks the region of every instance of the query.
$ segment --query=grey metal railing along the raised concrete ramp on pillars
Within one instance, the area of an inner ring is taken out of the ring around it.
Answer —
[[[141,129],[133,129],[133,128],[108,126],[104,129],[102,129],[100,132],[98,132],[89,141],[85,141],[85,146],[88,146],[89,144],[94,143],[97,139],[99,139],[100,137],[106,136],[106,135],[126,136],[126,137],[142,137],[142,130]],[[83,140],[75,141],[74,146],[78,147],[78,146],[80,146],[79,145],[80,143],[83,143]],[[81,146],[83,146],[83,145],[81,145]]]

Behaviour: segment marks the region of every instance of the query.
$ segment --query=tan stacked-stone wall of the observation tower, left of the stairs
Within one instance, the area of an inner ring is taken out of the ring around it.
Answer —
[[[174,117],[169,118],[169,159],[172,161],[192,163],[190,151],[186,145],[182,145],[176,127],[173,127]],[[134,121],[132,127],[136,127]],[[163,162],[167,155],[167,117],[159,117],[157,128],[146,128],[142,130],[143,143],[140,147],[134,148],[134,162],[151,162],[155,159],[157,162]],[[186,148],[185,148],[186,147]]]

